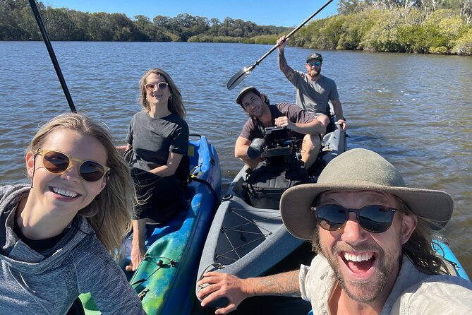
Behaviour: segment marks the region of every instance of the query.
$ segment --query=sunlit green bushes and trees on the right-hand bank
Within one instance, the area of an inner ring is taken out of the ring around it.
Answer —
[[[472,55],[472,0],[339,0],[291,44],[317,49]]]

